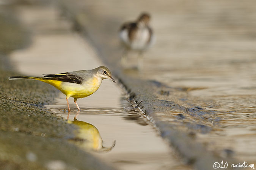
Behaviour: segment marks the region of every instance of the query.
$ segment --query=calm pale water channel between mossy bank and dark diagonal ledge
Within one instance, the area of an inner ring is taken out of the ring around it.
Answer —
[[[19,6],[17,10],[20,20],[33,33],[29,48],[11,54],[17,70],[24,75],[41,76],[102,65],[90,44],[71,31],[70,23],[60,18],[54,6]],[[79,143],[81,149],[91,150],[94,141],[102,138],[104,147],[112,146],[113,141],[116,141],[115,146],[108,152],[93,149],[91,153],[119,169],[189,169],[176,159],[175,152],[148,125],[149,122],[138,110],[123,109],[130,105],[121,88],[112,81],[103,80],[93,95],[78,99],[80,111],[77,111],[72,100],[69,99],[69,122],[72,123],[77,116],[81,128],[77,131],[80,136],[70,139],[70,142]],[[55,104],[46,107],[65,119],[68,117],[62,93]],[[91,143],[83,143],[89,139]],[[93,148],[101,147],[99,143],[95,145]]]

